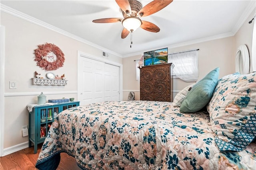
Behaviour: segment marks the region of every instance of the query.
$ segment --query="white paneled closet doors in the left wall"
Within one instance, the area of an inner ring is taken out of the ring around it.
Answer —
[[[119,100],[119,66],[81,56],[78,64],[80,105]]]

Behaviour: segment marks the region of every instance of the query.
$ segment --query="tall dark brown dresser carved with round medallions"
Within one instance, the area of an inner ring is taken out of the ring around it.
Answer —
[[[140,68],[140,100],[173,101],[172,63]]]

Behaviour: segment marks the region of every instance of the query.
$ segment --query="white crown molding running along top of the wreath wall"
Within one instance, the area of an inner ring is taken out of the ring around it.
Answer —
[[[72,39],[75,39],[75,40],[77,40],[77,41],[80,41],[80,42],[82,42],[82,43],[85,43],[85,44],[87,44],[87,45],[90,45],[90,46],[95,47],[95,48],[97,48],[97,49],[100,49],[100,50],[102,50],[102,51],[106,51],[106,52],[108,52],[108,53],[111,53],[111,54],[113,54],[113,55],[116,55],[117,57],[122,57],[122,55],[120,55],[120,54],[118,54],[118,53],[116,53],[116,52],[114,52],[114,51],[110,51],[109,49],[106,49],[106,48],[101,47],[101,46],[99,46],[99,45],[97,45],[97,44],[94,44],[94,43],[92,43],[92,42],[90,42],[90,41],[87,41],[86,39],[83,39],[83,38],[78,37],[78,36],[76,36],[76,35],[74,35],[74,34],[71,34],[71,33],[67,32],[67,31],[64,31],[64,30],[58,28],[58,27],[55,27],[55,26],[53,26],[53,25],[50,25],[50,24],[48,24],[48,23],[46,23],[46,22],[44,22],[44,21],[38,20],[38,19],[36,19],[36,18],[34,18],[34,17],[32,17],[32,16],[29,16],[29,15],[27,15],[27,14],[24,14],[24,13],[22,13],[22,12],[20,12],[20,11],[18,11],[18,10],[15,10],[15,9],[13,9],[13,8],[10,8],[10,7],[8,7],[8,6],[4,5],[4,4],[0,4],[0,11],[5,12],[5,13],[7,13],[7,14],[11,14],[12,16],[16,16],[16,17],[21,18],[21,19],[23,19],[23,20],[29,21],[29,22],[31,22],[31,23],[34,23],[34,24],[36,24],[36,25],[39,25],[39,26],[44,27],[44,28],[46,28],[46,29],[49,29],[49,30],[51,30],[51,31],[60,33],[60,34],[62,34],[62,35],[65,35],[66,37],[70,37],[70,38],[72,38]]]

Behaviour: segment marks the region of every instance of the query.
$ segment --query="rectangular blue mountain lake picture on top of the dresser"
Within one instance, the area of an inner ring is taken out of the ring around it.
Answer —
[[[144,66],[168,62],[168,48],[144,53]]]

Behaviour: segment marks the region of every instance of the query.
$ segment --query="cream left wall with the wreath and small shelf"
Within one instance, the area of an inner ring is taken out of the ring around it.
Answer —
[[[22,126],[28,125],[28,104],[37,103],[37,96],[44,92],[46,99],[71,98],[77,100],[77,51],[95,57],[102,57],[98,49],[76,39],[51,31],[29,21],[1,12],[1,25],[5,27],[4,56],[4,153],[12,147],[28,147],[28,137],[22,137]],[[42,70],[36,65],[34,49],[38,45],[53,43],[64,53],[64,66],[53,71]],[[122,58],[109,53],[109,59],[122,64]],[[66,86],[33,85],[32,78],[37,71],[41,76],[53,72],[65,74]],[[16,89],[9,88],[9,81],[16,82]],[[2,101],[1,101],[2,102]],[[4,154],[3,153],[3,154]]]

